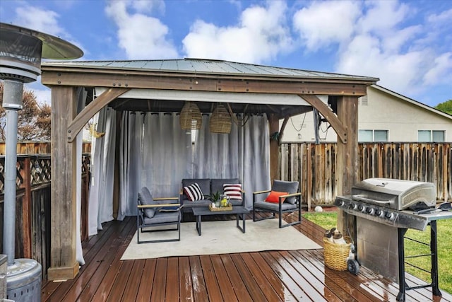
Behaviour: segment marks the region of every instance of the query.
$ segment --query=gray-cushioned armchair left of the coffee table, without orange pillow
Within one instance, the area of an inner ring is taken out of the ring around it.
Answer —
[[[147,187],[138,192],[136,216],[138,243],[155,243],[181,240],[181,204],[179,197],[153,198]],[[175,202],[174,202],[175,201]],[[162,226],[165,226],[162,228]],[[166,226],[175,226],[166,228]],[[177,238],[160,238],[140,241],[140,233],[178,231]]]

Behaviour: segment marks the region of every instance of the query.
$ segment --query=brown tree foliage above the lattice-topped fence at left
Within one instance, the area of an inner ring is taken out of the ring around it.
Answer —
[[[4,83],[0,82],[0,140],[6,138],[6,111],[3,108]],[[25,90],[22,95],[23,109],[18,111],[18,141],[49,141],[51,108],[38,104],[36,95]]]

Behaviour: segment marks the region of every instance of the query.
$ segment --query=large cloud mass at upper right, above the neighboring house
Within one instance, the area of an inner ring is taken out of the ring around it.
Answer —
[[[452,77],[450,50],[433,44],[450,30],[452,10],[427,23],[415,13],[409,2],[321,1],[297,11],[294,28],[308,50],[338,50],[336,72],[379,77],[380,85],[412,95]]]

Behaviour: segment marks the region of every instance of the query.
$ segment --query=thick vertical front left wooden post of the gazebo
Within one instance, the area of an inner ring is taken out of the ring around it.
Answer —
[[[76,88],[52,87],[52,178],[50,267],[47,279],[73,279],[76,260],[76,144],[66,141],[76,116]]]

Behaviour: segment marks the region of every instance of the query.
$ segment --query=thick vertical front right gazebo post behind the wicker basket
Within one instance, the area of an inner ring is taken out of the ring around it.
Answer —
[[[338,140],[338,156],[336,159],[336,181],[338,195],[350,195],[352,185],[355,185],[358,178],[358,98],[343,97],[338,98],[338,118],[347,129],[347,144]],[[347,214],[338,211],[338,228],[341,232],[347,229],[351,235],[355,233],[355,226],[352,217],[347,218]],[[346,234],[346,233],[344,233]]]

